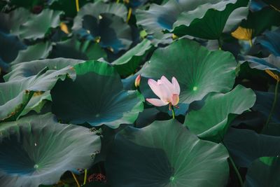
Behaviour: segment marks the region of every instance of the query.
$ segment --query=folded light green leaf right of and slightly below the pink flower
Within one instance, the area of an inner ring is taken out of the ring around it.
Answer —
[[[241,114],[255,104],[255,93],[250,88],[237,85],[232,91],[211,94],[202,109],[190,111],[184,125],[202,139],[221,141],[232,118],[229,114]],[[202,118],[203,116],[203,118]]]

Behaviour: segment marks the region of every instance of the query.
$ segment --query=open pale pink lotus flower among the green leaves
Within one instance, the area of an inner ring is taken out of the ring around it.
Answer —
[[[172,83],[170,83],[165,76],[162,76],[158,82],[150,78],[148,79],[148,85],[160,99],[147,98],[147,102],[155,106],[165,106],[169,104],[169,110],[171,110],[172,106],[178,107],[180,85],[175,77],[172,77]]]

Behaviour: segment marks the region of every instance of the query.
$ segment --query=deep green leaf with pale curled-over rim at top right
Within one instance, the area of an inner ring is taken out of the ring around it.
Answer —
[[[246,7],[248,0],[219,1],[203,4],[193,11],[185,11],[174,22],[177,36],[191,35],[203,39],[219,39],[230,14],[236,8]],[[241,21],[241,20],[239,20]]]

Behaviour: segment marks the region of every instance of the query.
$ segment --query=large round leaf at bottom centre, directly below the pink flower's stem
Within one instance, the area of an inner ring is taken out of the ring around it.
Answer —
[[[106,160],[112,186],[225,186],[228,151],[198,139],[176,120],[127,127]],[[132,167],[133,165],[133,167]]]

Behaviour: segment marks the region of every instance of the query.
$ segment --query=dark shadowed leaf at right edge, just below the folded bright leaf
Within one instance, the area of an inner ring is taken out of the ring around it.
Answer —
[[[239,167],[249,167],[263,156],[280,155],[280,137],[257,134],[253,130],[230,128],[223,142]]]

